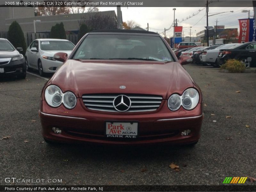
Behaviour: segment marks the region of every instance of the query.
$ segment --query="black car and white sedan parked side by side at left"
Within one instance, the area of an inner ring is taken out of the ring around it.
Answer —
[[[31,68],[39,71],[40,76],[54,73],[63,62],[53,57],[57,52],[64,52],[66,57],[75,45],[64,39],[36,39],[27,48],[25,57],[21,47],[15,48],[7,39],[0,38],[0,76],[18,76],[26,78]]]

